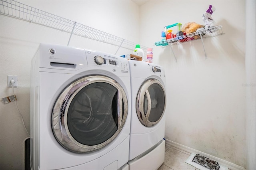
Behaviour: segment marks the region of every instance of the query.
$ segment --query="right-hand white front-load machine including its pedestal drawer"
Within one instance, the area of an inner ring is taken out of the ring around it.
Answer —
[[[164,162],[165,72],[160,65],[143,61],[129,61],[129,66],[132,99],[128,164],[130,170],[154,170]]]

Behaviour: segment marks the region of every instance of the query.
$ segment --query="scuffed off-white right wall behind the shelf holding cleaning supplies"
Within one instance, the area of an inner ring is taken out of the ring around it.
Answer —
[[[245,1],[150,1],[140,8],[140,40],[146,46],[161,40],[163,27],[180,22],[203,24],[212,18],[222,36],[170,47],[154,46],[153,61],[166,69],[168,140],[246,166]],[[176,32],[176,28],[174,28]]]

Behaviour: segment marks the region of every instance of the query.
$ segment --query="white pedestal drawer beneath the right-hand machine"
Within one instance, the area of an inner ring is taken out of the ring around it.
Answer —
[[[146,152],[130,160],[129,170],[157,170],[164,163],[164,144],[165,140],[161,140]]]

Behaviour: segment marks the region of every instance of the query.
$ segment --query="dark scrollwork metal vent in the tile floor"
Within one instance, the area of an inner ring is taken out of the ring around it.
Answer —
[[[218,164],[218,162],[211,160],[209,158],[206,158],[200,154],[196,154],[192,162],[196,162],[197,164],[200,164],[210,170],[219,170],[220,168],[220,165]]]

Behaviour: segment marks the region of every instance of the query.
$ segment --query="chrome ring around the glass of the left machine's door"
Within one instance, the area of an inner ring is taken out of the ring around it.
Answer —
[[[88,145],[79,143],[70,134],[68,130],[68,124],[67,124],[67,114],[68,114],[68,108],[74,96],[87,85],[90,85],[92,83],[97,83],[97,82],[108,83],[120,91],[121,102],[124,103],[124,116],[122,117],[121,121],[119,120],[120,125],[118,125],[118,129],[113,136],[111,136],[108,140],[106,140],[101,144],[88,146]],[[83,77],[74,81],[72,84],[66,87],[66,89],[62,91],[62,93],[56,100],[56,103],[54,104],[53,111],[52,111],[52,130],[54,132],[55,138],[67,150],[70,150],[76,153],[92,152],[106,146],[108,143],[114,140],[114,138],[120,133],[120,131],[122,130],[122,127],[124,126],[126,122],[127,114],[128,114],[128,101],[127,101],[126,93],[118,82],[116,82],[114,79],[101,76],[101,75]]]

